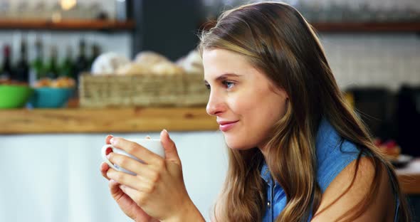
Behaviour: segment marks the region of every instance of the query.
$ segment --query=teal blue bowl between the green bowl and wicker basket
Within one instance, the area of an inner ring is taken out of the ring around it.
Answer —
[[[73,88],[34,88],[29,103],[34,108],[60,108],[67,105]]]

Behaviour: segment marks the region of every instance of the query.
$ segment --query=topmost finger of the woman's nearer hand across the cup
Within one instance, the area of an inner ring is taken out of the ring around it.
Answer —
[[[122,149],[125,152],[132,154],[132,156],[141,159],[146,164],[154,164],[156,162],[159,163],[160,159],[162,159],[162,157],[159,157],[159,155],[154,154],[153,152],[149,151],[149,149],[140,146],[140,144],[137,144],[127,139],[123,139],[121,137],[112,137],[110,139],[110,142],[114,147],[117,147],[118,149]]]

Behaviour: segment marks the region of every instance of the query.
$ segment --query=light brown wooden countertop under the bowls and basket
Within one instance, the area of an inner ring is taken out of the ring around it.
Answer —
[[[0,110],[0,134],[203,131],[219,129],[205,107]]]

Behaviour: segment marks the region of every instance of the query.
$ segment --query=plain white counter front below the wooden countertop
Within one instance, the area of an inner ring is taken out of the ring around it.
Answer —
[[[187,191],[209,220],[227,167],[223,137],[220,132],[169,133],[182,159]],[[0,221],[130,221],[99,171],[105,136],[0,135]]]

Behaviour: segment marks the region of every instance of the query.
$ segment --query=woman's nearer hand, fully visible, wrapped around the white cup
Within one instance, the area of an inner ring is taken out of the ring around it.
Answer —
[[[135,142],[113,137],[110,142],[114,147],[143,163],[111,152],[108,156],[110,162],[137,175],[108,169],[106,176],[121,184],[120,189],[153,218],[160,221],[204,221],[187,194],[177,147],[166,130],[161,132],[160,140],[165,158]]]

